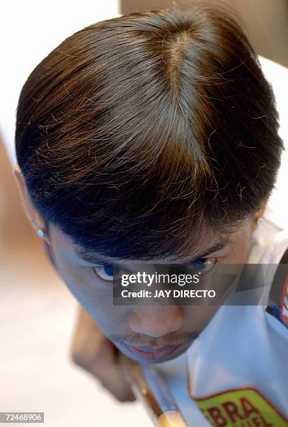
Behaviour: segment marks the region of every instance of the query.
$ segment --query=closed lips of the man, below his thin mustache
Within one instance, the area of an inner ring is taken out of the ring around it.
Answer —
[[[181,352],[187,350],[190,346],[190,343],[181,343],[180,345],[164,345],[162,347],[134,347],[132,345],[127,345],[129,352],[135,356],[137,359],[145,359],[150,362],[159,362],[165,361],[167,359],[173,359],[176,356],[179,356]]]

